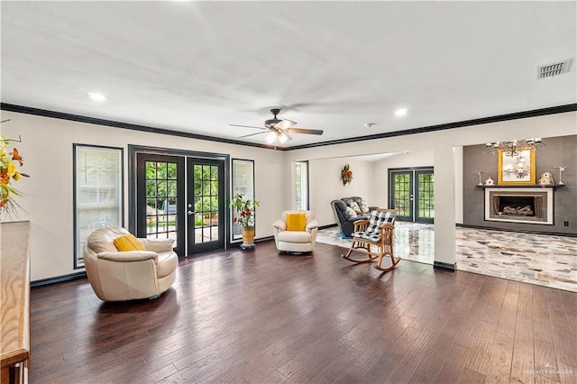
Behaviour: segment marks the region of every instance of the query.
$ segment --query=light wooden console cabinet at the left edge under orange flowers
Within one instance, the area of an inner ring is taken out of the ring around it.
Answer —
[[[0,224],[0,383],[28,381],[30,222]]]

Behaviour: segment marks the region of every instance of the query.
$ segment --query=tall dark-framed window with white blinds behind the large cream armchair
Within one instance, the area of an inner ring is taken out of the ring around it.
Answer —
[[[123,226],[123,149],[74,144],[74,268],[96,228]]]

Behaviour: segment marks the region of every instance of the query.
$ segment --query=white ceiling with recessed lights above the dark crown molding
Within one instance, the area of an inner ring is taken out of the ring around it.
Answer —
[[[280,106],[325,130],[285,147],[573,104],[576,4],[2,1],[1,100],[227,139]]]

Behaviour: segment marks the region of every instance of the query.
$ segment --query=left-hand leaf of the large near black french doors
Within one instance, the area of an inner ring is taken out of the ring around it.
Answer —
[[[184,158],[139,153],[136,159],[136,235],[173,239],[184,256]]]

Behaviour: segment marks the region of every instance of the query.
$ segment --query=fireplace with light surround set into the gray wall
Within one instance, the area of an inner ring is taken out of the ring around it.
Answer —
[[[485,220],[553,225],[553,188],[485,188]]]

